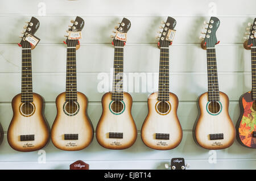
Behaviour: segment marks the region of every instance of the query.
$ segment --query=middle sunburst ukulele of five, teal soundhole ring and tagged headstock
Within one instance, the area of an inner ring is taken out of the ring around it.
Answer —
[[[102,96],[102,114],[96,128],[98,143],[108,149],[126,149],[134,144],[137,128],[131,116],[133,99],[123,92],[123,47],[130,20],[123,18],[112,44],[114,45],[113,90]]]

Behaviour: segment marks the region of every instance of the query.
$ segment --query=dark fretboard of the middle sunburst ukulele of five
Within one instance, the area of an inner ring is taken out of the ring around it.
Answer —
[[[112,100],[123,100],[123,47],[114,49]]]

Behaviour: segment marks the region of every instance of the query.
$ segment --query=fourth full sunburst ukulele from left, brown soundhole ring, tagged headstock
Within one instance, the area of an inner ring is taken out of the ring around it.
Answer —
[[[169,45],[174,37],[175,26],[176,20],[168,17],[158,42],[158,92],[148,97],[148,114],[141,128],[144,144],[157,150],[174,149],[182,140],[182,129],[177,117],[179,100],[175,94],[169,92]]]

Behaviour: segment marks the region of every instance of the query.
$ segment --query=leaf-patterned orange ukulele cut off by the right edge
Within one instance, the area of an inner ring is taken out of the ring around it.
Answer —
[[[247,148],[256,148],[256,18],[253,24],[249,23],[250,36],[243,44],[251,50],[251,91],[241,95],[240,117],[237,121],[237,140]]]

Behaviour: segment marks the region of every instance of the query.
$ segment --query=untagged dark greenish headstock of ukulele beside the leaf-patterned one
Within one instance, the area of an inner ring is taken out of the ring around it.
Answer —
[[[203,49],[206,48],[214,48],[216,44],[220,43],[220,41],[217,41],[216,37],[216,31],[218,27],[220,26],[220,20],[216,17],[210,17],[209,23],[204,22],[207,27],[204,27],[205,31],[202,31],[202,34],[205,34],[205,37],[203,37],[203,41],[201,42],[201,47]]]

